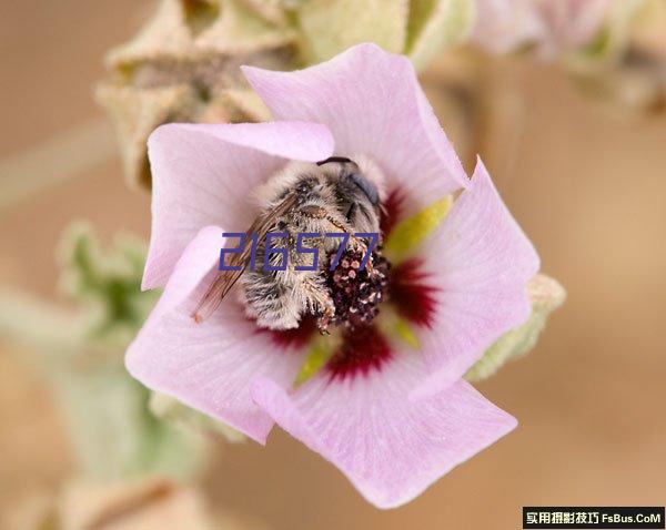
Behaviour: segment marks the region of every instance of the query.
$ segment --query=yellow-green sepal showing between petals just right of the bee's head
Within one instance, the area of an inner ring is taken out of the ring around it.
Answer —
[[[393,261],[405,257],[437,227],[452,205],[453,197],[446,195],[421,212],[401,221],[391,231],[384,244],[386,255]]]

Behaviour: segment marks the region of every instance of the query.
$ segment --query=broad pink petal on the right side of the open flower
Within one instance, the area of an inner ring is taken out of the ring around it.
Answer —
[[[420,333],[431,375],[414,397],[455,383],[484,351],[531,313],[527,282],[538,256],[478,161],[472,184],[426,242],[434,323]]]

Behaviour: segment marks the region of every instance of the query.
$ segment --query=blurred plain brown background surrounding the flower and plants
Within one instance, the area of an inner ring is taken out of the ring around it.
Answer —
[[[125,185],[114,131],[92,92],[105,77],[104,53],[152,9],[129,0],[3,2],[3,288],[71,307],[56,255],[74,220],[89,220],[103,245],[119,230],[148,237],[149,192]],[[595,101],[553,63],[491,62],[482,139],[470,139],[477,122],[440,99],[448,59],[437,57],[423,79],[444,129],[457,146],[481,152],[543,271],[567,291],[535,350],[477,385],[519,427],[387,512],[279,428],[265,448],[211,438],[186,492],[223,519],[211,528],[513,529],[523,506],[664,504],[666,113]],[[14,312],[11,299],[3,315]],[[38,317],[22,325],[40,333]],[[56,528],[16,521],[32,521],[71,487],[75,449],[40,364],[0,336],[1,528]],[[170,503],[171,513],[188,504],[179,488],[150,486],[143,501]],[[122,526],[134,508],[121,510],[124,522],[84,528],[149,528]]]

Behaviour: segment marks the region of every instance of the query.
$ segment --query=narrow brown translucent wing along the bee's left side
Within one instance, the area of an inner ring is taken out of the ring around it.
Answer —
[[[192,313],[192,318],[198,324],[201,324],[204,319],[211,316],[222,300],[226,296],[226,294],[231,291],[231,288],[239,281],[241,275],[248,268],[248,263],[250,261],[250,256],[252,254],[252,242],[250,239],[251,234],[258,234],[259,241],[263,239],[265,235],[269,233],[271,227],[275,224],[275,222],[282,217],[286,212],[289,212],[296,204],[296,195],[291,194],[286,198],[284,198],[278,206],[271,210],[268,214],[260,215],[254,220],[250,228],[245,232],[245,245],[243,247],[243,252],[239,254],[234,254],[229,265],[233,267],[241,267],[239,271],[222,271],[218,275],[218,277],[210,285],[201,302],[194,308]],[[250,241],[249,241],[250,239]]]

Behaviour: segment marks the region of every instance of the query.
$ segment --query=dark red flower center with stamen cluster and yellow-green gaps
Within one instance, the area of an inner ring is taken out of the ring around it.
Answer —
[[[381,370],[395,348],[418,347],[416,328],[435,325],[438,287],[426,272],[424,261],[410,256],[408,251],[436,226],[446,208],[440,202],[405,217],[403,200],[401,190],[386,197],[380,224],[384,247],[371,254],[363,271],[364,253],[347,247],[334,271],[325,267],[321,272],[335,307],[327,322],[334,335],[316,337],[316,329],[322,329],[321,315],[305,316],[297,329],[272,332],[276,345],[304,347],[309,351],[297,384],[320,369],[331,379]],[[392,264],[384,253],[396,263]],[[327,257],[327,263],[333,264],[335,254]],[[384,307],[380,316],[381,304]]]

